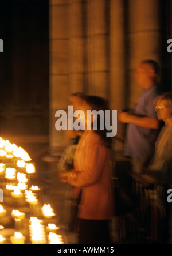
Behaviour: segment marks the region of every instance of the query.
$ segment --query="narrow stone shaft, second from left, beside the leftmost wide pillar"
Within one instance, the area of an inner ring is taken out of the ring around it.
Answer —
[[[69,10],[69,86],[70,92],[84,92],[83,1],[70,0]]]

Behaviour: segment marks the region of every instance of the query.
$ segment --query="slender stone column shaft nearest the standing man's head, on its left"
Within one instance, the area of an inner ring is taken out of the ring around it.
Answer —
[[[110,107],[111,110],[126,108],[124,2],[110,1]],[[124,140],[124,125],[118,121],[117,135]],[[122,142],[114,141],[115,151],[123,149]]]

